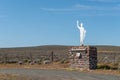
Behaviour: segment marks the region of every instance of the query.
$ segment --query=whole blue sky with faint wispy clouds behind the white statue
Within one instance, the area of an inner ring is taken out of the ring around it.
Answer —
[[[0,47],[120,46],[120,0],[0,0]]]

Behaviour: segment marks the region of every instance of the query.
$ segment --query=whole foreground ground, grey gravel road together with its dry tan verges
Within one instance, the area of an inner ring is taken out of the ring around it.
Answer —
[[[46,65],[1,64],[0,80],[120,80],[116,70],[84,70],[68,68],[68,64]]]

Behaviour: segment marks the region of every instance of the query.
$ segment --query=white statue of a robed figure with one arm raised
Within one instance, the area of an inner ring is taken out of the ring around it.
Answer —
[[[79,21],[77,20],[77,27],[80,30],[80,44],[83,45],[84,39],[85,39],[85,34],[86,30],[83,27],[83,23],[79,24]]]

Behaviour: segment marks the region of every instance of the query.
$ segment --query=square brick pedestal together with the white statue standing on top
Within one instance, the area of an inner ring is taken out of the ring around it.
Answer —
[[[80,46],[74,46],[70,49],[70,67],[87,70],[96,69],[97,48],[84,45],[86,30],[83,27],[83,23],[79,24],[79,21],[77,21],[77,27],[80,30]]]

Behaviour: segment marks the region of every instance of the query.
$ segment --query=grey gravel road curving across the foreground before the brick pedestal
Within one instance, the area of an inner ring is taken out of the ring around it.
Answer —
[[[120,80],[120,76],[64,70],[0,69],[0,73],[18,74],[32,80]]]

